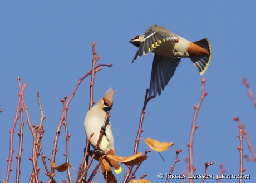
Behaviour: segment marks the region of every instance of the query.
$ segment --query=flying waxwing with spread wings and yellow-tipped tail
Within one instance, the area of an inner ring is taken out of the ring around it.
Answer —
[[[148,52],[154,54],[149,95],[161,94],[174,75],[180,58],[189,57],[200,75],[205,73],[211,59],[211,45],[207,38],[190,42],[156,25],[149,27],[144,35],[134,36],[129,42],[139,47],[132,62]]]

